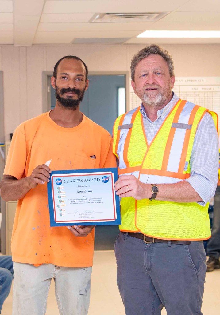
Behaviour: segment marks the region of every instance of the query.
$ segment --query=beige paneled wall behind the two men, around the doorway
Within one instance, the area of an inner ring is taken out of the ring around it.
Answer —
[[[129,71],[143,45],[0,46],[5,140],[19,123],[42,113],[42,71],[64,55],[77,55],[89,71]],[[176,76],[220,76],[220,44],[162,45],[173,56]]]

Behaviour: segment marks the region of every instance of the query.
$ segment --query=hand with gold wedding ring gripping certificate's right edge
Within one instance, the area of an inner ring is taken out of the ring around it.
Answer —
[[[151,198],[151,184],[141,183],[134,175],[121,175],[115,183],[116,195],[136,200]]]

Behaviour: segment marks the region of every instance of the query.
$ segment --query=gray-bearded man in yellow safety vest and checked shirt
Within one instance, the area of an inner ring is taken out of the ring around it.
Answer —
[[[167,314],[202,315],[217,115],[172,92],[173,60],[157,45],[133,57],[131,78],[142,104],[113,128],[122,221],[115,255],[125,312],[159,315],[164,306]]]

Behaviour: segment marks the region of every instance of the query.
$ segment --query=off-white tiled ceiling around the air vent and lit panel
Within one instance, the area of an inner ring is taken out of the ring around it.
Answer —
[[[91,22],[99,13],[167,14],[157,22]],[[0,44],[146,43],[146,30],[220,30],[219,0],[0,0]],[[151,42],[153,39],[151,39]],[[219,38],[157,43],[220,43]]]

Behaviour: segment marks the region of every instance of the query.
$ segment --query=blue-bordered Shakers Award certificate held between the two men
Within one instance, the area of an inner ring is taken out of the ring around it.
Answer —
[[[119,197],[114,191],[117,179],[117,168],[52,171],[47,183],[50,226],[121,224]],[[94,210],[87,210],[92,204]]]

